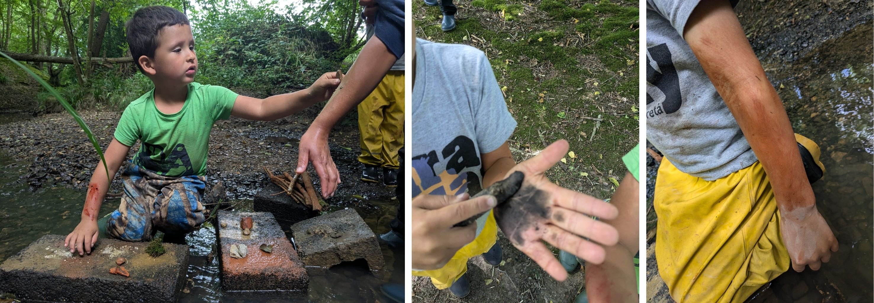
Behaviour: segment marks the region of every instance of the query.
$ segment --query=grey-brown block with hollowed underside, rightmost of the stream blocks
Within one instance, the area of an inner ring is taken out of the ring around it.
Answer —
[[[291,231],[307,266],[329,268],[364,259],[375,276],[385,273],[385,260],[376,235],[356,210],[337,210],[304,220],[292,225]]]

